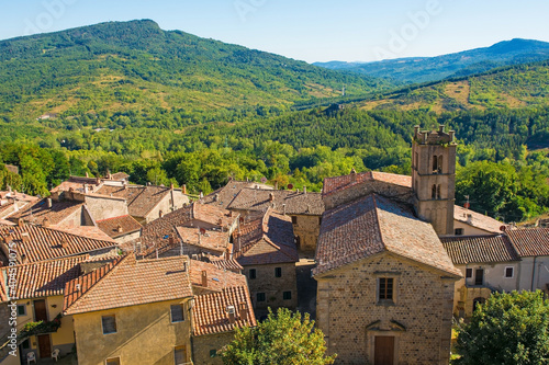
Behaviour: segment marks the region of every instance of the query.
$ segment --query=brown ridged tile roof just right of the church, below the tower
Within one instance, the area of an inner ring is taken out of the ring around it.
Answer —
[[[518,261],[520,258],[503,235],[440,238],[455,265]]]

